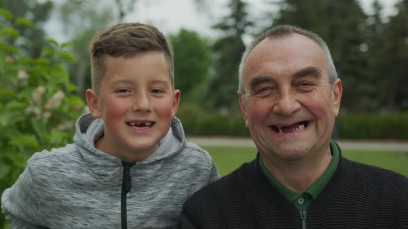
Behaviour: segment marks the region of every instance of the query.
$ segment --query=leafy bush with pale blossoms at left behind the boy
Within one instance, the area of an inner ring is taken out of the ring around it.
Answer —
[[[62,66],[75,61],[64,50],[67,44],[49,39],[41,57],[28,57],[14,45],[19,32],[11,19],[0,9],[0,193],[16,181],[34,152],[71,142],[75,119],[84,112]],[[26,19],[17,23],[32,26]],[[0,214],[0,228],[4,224]]]

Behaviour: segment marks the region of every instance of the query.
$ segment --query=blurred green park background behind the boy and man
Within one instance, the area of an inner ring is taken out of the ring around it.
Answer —
[[[408,141],[407,0],[0,0],[0,193],[33,152],[72,142],[91,87],[89,41],[122,21],[151,23],[171,40],[187,136],[249,137],[237,99],[241,54],[254,35],[290,23],[331,48],[344,88],[333,138]],[[222,175],[256,153],[205,148]],[[344,153],[408,175],[408,148]]]

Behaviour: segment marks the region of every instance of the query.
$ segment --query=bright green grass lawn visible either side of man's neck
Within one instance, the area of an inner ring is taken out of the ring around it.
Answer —
[[[232,172],[242,163],[252,161],[257,154],[254,147],[201,146],[210,152],[221,176]],[[343,150],[344,157],[372,166],[387,168],[408,177],[408,152],[387,152],[370,150]]]

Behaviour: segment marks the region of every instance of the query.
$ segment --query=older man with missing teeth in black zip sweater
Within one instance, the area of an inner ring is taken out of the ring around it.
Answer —
[[[349,161],[331,140],[342,92],[317,34],[261,34],[238,91],[259,153],[188,199],[178,228],[408,228],[408,178]]]

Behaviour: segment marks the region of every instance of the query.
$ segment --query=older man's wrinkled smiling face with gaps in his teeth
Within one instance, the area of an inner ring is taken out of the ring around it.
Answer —
[[[297,160],[330,152],[342,85],[328,83],[322,49],[307,37],[267,38],[250,52],[243,69],[245,125],[263,157]]]

